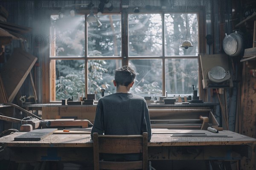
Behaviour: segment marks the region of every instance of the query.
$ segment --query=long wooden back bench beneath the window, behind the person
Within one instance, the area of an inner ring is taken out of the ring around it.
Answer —
[[[217,104],[204,102],[204,103],[191,103],[191,104],[148,104],[149,114],[152,118],[159,116],[156,110],[167,109],[167,112],[195,112],[209,110],[215,113]],[[28,104],[23,105],[28,111],[41,111],[42,119],[88,119],[94,122],[97,105],[61,105],[61,103],[48,103],[48,104]],[[161,117],[158,119],[162,119]]]

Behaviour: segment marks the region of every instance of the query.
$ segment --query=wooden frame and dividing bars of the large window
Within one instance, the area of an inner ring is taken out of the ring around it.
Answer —
[[[129,59],[162,59],[162,64],[163,64],[163,70],[162,70],[162,80],[163,80],[163,84],[162,84],[162,91],[165,92],[166,91],[166,87],[165,87],[165,84],[166,84],[166,81],[165,81],[165,61],[166,59],[198,59],[198,56],[185,56],[185,57],[182,57],[182,56],[165,56],[165,31],[164,31],[164,26],[165,26],[165,20],[164,20],[164,15],[167,14],[167,13],[185,13],[185,9],[175,9],[175,10],[170,10],[169,11],[161,11],[161,10],[156,10],[154,12],[140,12],[140,14],[161,14],[161,17],[162,17],[162,56],[152,56],[152,57],[129,57],[128,56],[128,43],[122,43],[122,46],[121,46],[121,57],[88,57],[88,51],[87,51],[87,48],[88,48],[88,45],[87,43],[85,43],[85,56],[84,57],[51,57],[50,56],[50,49],[52,50],[52,47],[50,47],[49,49],[49,53],[48,55],[46,56],[46,59],[45,59],[45,63],[46,65],[43,65],[43,69],[45,70],[45,81],[43,82],[43,100],[45,103],[49,103],[49,102],[59,102],[59,101],[54,101],[52,100],[53,98],[55,98],[55,95],[53,95],[52,93],[55,93],[55,90],[53,90],[53,86],[52,86],[52,83],[55,83],[55,80],[53,81],[54,79],[54,75],[55,75],[55,71],[51,70],[50,68],[50,64],[52,61],[54,60],[58,60],[58,59],[82,59],[84,60],[85,62],[85,77],[88,77],[88,72],[87,72],[87,68],[88,68],[88,60],[90,59],[120,59],[121,60],[121,63],[122,65],[128,65],[128,62],[129,62]],[[204,14],[204,8],[203,10],[198,10],[198,11],[192,11],[192,10],[187,10],[186,13],[195,13],[195,14],[198,14],[198,55],[199,54],[204,54],[205,53],[205,49],[206,49],[206,45],[205,45],[205,41],[203,39],[203,37],[205,37],[205,28],[202,27],[204,26],[204,23],[205,23],[205,16],[203,15]],[[87,16],[89,14],[88,13],[84,13],[82,15],[84,16]],[[109,13],[110,14],[110,13]],[[120,12],[118,13],[111,13],[111,14],[120,14]],[[135,14],[133,11],[131,10],[121,10],[121,35],[127,35],[128,36],[128,14]],[[50,18],[50,17],[49,17]],[[86,22],[86,17],[85,17],[85,41],[86,41],[86,35],[88,34],[88,30],[87,30],[87,22]],[[201,38],[200,38],[201,37]],[[52,43],[51,43],[52,45]],[[199,62],[198,62],[198,65]],[[201,86],[201,82],[199,81],[200,80],[200,74],[198,72],[198,87],[199,87],[199,96],[200,94],[202,94],[202,86]],[[85,78],[85,92],[84,92],[84,95],[86,96],[87,95],[87,92],[88,92],[88,79]],[[55,88],[54,88],[55,89]],[[47,93],[48,92],[48,93]],[[164,96],[165,93],[162,93],[162,96]]]

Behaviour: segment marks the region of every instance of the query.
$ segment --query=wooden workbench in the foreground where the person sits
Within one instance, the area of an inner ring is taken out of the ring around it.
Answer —
[[[52,134],[41,141],[14,141],[16,132],[0,138],[13,161],[93,161],[90,134]],[[88,133],[88,132],[87,132]],[[238,160],[250,157],[256,139],[228,130],[152,129],[149,160]],[[26,156],[24,156],[26,155]]]

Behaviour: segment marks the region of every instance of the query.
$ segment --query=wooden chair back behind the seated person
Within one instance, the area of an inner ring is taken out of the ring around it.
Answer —
[[[104,161],[99,153],[142,153],[140,161]],[[93,133],[94,170],[148,169],[148,133],[143,135],[99,135]]]

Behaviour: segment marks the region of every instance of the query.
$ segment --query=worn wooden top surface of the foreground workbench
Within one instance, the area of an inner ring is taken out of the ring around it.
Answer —
[[[41,141],[14,141],[14,138],[26,132],[16,132],[0,138],[6,147],[93,147],[88,132],[77,131],[68,134],[52,134]],[[87,134],[86,134],[87,133]],[[256,139],[229,130],[212,133],[207,130],[169,130],[152,129],[148,147],[155,146],[203,146],[203,145],[252,145]]]

